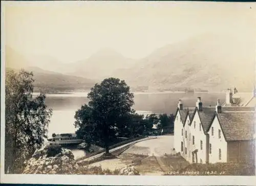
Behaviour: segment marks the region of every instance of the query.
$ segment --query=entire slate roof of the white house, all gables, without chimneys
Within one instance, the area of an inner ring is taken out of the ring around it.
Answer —
[[[203,107],[202,111],[198,111],[197,107],[195,107],[177,109],[177,112],[180,112],[183,126],[187,117],[189,117],[191,125],[195,113],[198,112],[205,134],[209,131],[214,118],[217,117],[226,141],[242,141],[253,138],[255,107],[222,107],[221,113],[217,113],[215,109],[215,107]]]

